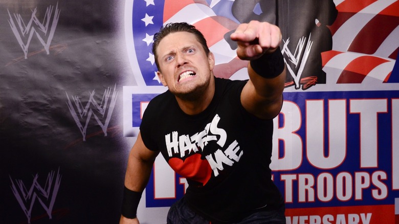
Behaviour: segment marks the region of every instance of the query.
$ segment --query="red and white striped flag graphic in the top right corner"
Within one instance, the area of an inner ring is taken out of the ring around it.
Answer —
[[[322,53],[323,70],[335,83],[399,82],[399,1],[335,1],[333,49]],[[395,65],[396,63],[396,65]]]

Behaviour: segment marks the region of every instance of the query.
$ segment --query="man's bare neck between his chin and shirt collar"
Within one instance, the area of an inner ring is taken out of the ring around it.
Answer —
[[[215,81],[214,78],[211,78],[209,82],[209,87],[201,96],[195,99],[181,99],[176,97],[180,108],[184,111],[184,113],[188,115],[197,115],[204,111],[213,99],[213,95],[215,94]]]

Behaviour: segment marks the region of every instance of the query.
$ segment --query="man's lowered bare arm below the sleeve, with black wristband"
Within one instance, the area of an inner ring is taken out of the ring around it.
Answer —
[[[157,158],[159,152],[149,150],[143,143],[141,135],[137,137],[135,145],[131,148],[129,159],[127,162],[127,169],[125,175],[125,192],[122,211],[126,214],[135,214],[136,211],[131,211],[126,208],[134,208],[137,210],[139,205],[141,193],[144,191],[148,183],[152,166]],[[127,194],[126,194],[127,193]],[[135,199],[136,198],[136,199]],[[133,200],[132,200],[133,199]],[[127,210],[127,212],[126,212]],[[135,216],[135,215],[134,215]],[[139,220],[137,217],[125,217],[123,212],[120,219],[120,224],[137,224]]]

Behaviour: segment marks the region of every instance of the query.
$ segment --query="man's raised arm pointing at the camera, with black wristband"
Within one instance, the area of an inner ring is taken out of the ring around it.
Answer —
[[[286,74],[279,49],[282,38],[280,29],[253,20],[240,24],[230,37],[237,41],[237,56],[250,61],[250,80],[242,89],[242,106],[258,118],[273,119],[282,106]]]

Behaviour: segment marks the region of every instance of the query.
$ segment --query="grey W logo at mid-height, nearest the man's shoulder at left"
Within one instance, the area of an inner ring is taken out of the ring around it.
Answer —
[[[92,115],[96,119],[97,123],[101,126],[101,129],[104,132],[104,135],[107,136],[107,128],[108,128],[109,120],[111,119],[112,113],[115,108],[116,99],[118,96],[118,92],[116,91],[116,84],[115,84],[114,92],[112,94],[111,99],[109,99],[109,96],[111,94],[111,89],[109,87],[104,91],[104,94],[102,96],[102,100],[101,100],[100,104],[98,104],[97,101],[94,99],[94,94],[95,94],[95,91],[90,93],[90,98],[89,98],[86,106],[82,105],[82,103],[78,97],[76,97],[76,96],[73,97],[73,100],[75,102],[75,107],[73,106],[71,100],[69,99],[68,94],[66,94],[66,97],[68,97],[67,104],[69,107],[69,111],[71,112],[72,117],[74,118],[76,124],[78,125],[78,127],[80,129],[80,132],[82,133],[83,141],[86,141],[86,129],[87,129],[88,122],[90,121]],[[108,102],[109,102],[109,107],[107,109]],[[100,113],[102,115],[102,117],[104,117],[106,114],[104,124],[100,121],[98,116],[93,113],[93,109],[91,108],[91,106],[93,106],[94,110],[96,110],[98,113]],[[79,117],[80,117],[80,119],[85,118],[84,126],[80,122]]]

